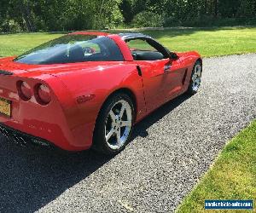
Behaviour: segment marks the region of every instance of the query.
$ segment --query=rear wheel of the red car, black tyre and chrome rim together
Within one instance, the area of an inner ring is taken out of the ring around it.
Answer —
[[[134,107],[129,95],[117,93],[108,98],[96,120],[93,148],[116,154],[131,141]]]

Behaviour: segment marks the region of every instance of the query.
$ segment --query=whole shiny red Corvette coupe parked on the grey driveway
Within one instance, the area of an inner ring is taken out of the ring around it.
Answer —
[[[74,32],[0,60],[0,131],[19,143],[119,153],[133,125],[201,84],[196,52],[141,33]]]

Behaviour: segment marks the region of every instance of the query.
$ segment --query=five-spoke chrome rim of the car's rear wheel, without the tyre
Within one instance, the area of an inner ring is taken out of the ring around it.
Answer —
[[[108,112],[105,122],[105,139],[108,147],[118,150],[125,145],[131,132],[132,112],[125,100],[116,102]]]

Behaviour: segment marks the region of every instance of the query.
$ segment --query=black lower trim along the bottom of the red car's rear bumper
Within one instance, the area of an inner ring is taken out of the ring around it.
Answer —
[[[0,124],[0,133],[6,136],[9,141],[13,141],[16,144],[21,146],[26,145],[40,145],[42,147],[55,147],[51,142],[44,140],[43,138],[39,138],[33,135],[28,135],[19,130],[15,130],[9,128],[4,124]]]

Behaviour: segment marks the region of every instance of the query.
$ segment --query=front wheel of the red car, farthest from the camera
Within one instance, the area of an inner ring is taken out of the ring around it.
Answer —
[[[189,82],[188,93],[190,95],[195,95],[195,93],[197,93],[198,89],[201,86],[201,72],[202,72],[201,61],[197,60],[195,62],[195,66],[193,68],[190,82]]]

